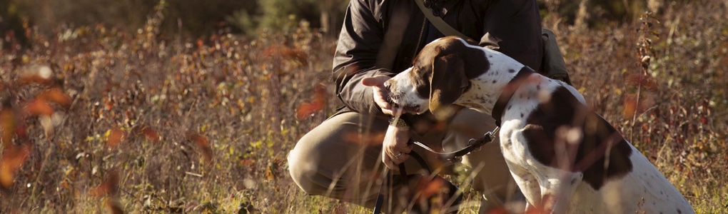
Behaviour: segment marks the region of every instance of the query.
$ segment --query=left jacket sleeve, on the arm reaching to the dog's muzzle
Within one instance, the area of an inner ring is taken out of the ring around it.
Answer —
[[[395,75],[375,66],[385,25],[381,20],[381,7],[377,4],[381,1],[349,2],[333,58],[336,95],[344,106],[364,114],[382,113],[374,103],[373,90],[361,84],[361,80],[368,76]]]

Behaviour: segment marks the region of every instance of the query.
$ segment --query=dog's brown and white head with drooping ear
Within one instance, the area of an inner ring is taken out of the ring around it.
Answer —
[[[392,103],[408,113],[435,113],[454,103],[470,87],[470,79],[488,70],[486,53],[464,39],[448,36],[427,44],[412,67],[384,86]]]

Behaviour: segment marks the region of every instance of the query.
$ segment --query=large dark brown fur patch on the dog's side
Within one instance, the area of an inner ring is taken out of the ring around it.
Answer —
[[[632,171],[632,149],[627,140],[564,87],[555,90],[551,100],[539,104],[526,122],[523,135],[529,143],[529,151],[538,162],[552,167],[558,167],[556,143],[564,142],[563,136],[557,134],[558,130],[562,127],[582,130],[576,151],[571,150],[569,154],[574,156],[569,170],[584,173],[583,181],[594,189],[600,189],[606,180],[620,178]],[[605,163],[608,163],[606,167]]]

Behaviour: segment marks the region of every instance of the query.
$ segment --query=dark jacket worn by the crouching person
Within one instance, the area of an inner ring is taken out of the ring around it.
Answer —
[[[361,84],[361,79],[394,76],[411,66],[428,41],[443,36],[414,1],[405,1],[409,24],[391,69],[375,64],[396,0],[349,2],[333,58],[333,78],[336,94],[350,110],[381,115],[371,87]],[[480,46],[497,49],[531,68],[541,67],[541,17],[535,0],[440,0],[440,5],[444,13],[440,17],[466,36],[480,38]]]

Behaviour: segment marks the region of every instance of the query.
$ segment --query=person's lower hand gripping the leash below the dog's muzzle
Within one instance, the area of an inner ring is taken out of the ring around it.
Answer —
[[[384,135],[384,143],[381,148],[381,162],[387,168],[399,171],[399,165],[409,158],[412,145],[407,142],[410,138],[408,127],[395,127],[390,125]]]

